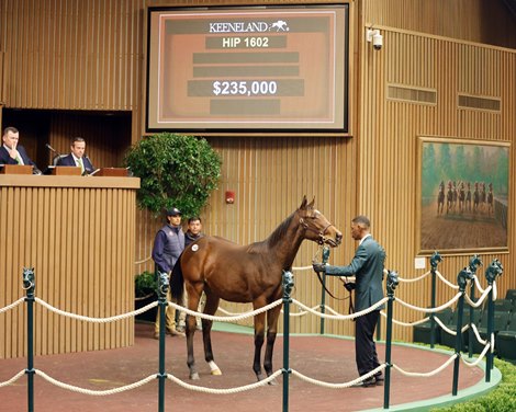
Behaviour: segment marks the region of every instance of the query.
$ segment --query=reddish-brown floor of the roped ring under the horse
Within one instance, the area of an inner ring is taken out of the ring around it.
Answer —
[[[158,370],[158,341],[152,337],[153,325],[136,323],[133,347],[77,354],[36,357],[34,367],[53,378],[81,388],[105,390],[135,382]],[[202,354],[202,339],[195,335],[195,355],[201,380],[188,379],[186,342],[167,336],[167,373],[179,379],[209,388],[233,388],[255,382],[251,369],[253,335],[213,332],[215,360],[222,376],[211,376]],[[282,367],[283,341],[274,348],[274,370]],[[330,336],[291,336],[290,367],[314,379],[346,382],[357,377],[352,340]],[[380,358],[384,346],[378,345]],[[448,354],[417,347],[393,346],[392,362],[405,370],[430,371],[442,365]],[[0,382],[26,367],[26,359],[0,360]],[[481,381],[480,368],[461,367],[459,394]],[[91,397],[55,387],[35,376],[34,411],[37,412],[147,412],[158,411],[158,380],[123,393]],[[235,394],[210,394],[183,389],[167,380],[165,410],[192,412],[282,411],[282,378],[277,386],[261,387]],[[450,394],[452,365],[430,378],[410,378],[392,371],[390,405]],[[384,388],[327,389],[290,378],[289,411],[360,411],[383,408]],[[0,388],[0,411],[27,411],[26,377]]]

